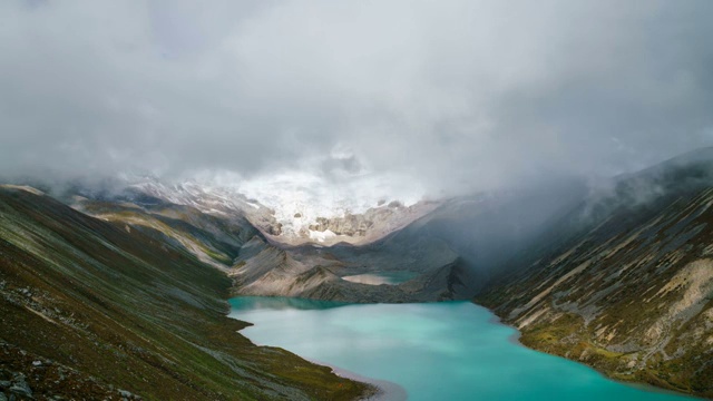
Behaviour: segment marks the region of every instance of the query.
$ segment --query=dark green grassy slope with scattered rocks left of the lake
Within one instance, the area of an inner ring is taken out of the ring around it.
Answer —
[[[225,316],[231,281],[158,229],[182,227],[166,214],[150,221],[165,226],[114,224],[31,188],[0,188],[3,398],[348,400],[370,391],[236,333],[246,323]],[[212,233],[216,222],[196,218],[217,251],[242,244],[244,232]]]

